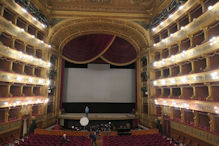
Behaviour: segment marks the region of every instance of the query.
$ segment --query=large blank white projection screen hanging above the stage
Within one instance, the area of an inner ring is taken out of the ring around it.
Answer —
[[[65,68],[63,102],[135,103],[135,70]]]

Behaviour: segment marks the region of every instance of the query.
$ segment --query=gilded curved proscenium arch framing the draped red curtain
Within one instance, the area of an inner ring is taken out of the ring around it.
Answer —
[[[63,20],[52,27],[49,39],[50,43],[62,54],[64,46],[70,40],[82,35],[95,33],[112,34],[128,41],[136,49],[137,59],[140,57],[140,52],[148,46],[147,31],[140,25],[120,19],[99,17]],[[127,64],[114,63],[114,65]]]

